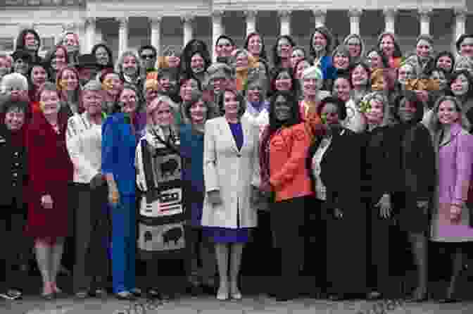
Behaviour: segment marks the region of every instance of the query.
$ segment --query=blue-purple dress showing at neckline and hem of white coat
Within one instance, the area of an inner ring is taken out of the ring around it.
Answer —
[[[241,123],[228,123],[232,130],[238,150],[243,146],[243,129]],[[203,234],[215,243],[246,243],[250,239],[250,228],[240,227],[239,213],[236,213],[236,229],[225,227],[203,227]]]

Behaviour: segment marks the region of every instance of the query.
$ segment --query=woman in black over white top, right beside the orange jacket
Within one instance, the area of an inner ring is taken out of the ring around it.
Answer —
[[[366,293],[366,213],[360,201],[360,141],[340,125],[345,103],[327,97],[317,108],[327,129],[310,146],[307,166],[327,222],[327,292],[332,300]],[[349,280],[348,280],[349,278]]]

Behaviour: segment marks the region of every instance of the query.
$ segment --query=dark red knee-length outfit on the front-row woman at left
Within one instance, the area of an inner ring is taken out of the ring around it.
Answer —
[[[61,131],[57,134],[41,111],[32,115],[26,134],[30,165],[26,232],[39,238],[65,237],[68,234],[68,182],[73,173],[65,146],[66,124],[59,123]],[[47,194],[53,199],[51,209],[41,205],[42,196]]]

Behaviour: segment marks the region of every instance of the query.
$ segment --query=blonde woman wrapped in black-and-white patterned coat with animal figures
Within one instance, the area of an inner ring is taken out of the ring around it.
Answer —
[[[175,260],[187,258],[183,163],[174,120],[177,108],[171,104],[168,96],[160,95],[146,108],[146,128],[135,157],[137,186],[142,192],[137,230],[139,256],[146,260],[148,293],[164,299],[172,299],[175,292],[172,282],[166,279],[174,270]],[[166,240],[170,234],[175,234],[174,239]]]

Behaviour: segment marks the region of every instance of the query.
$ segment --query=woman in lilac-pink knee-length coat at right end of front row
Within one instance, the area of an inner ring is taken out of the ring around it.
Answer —
[[[473,241],[471,213],[467,208],[472,179],[473,135],[453,96],[442,96],[429,120],[437,153],[438,181],[431,221],[431,240],[450,243],[453,270],[444,302],[455,301],[455,286],[465,258],[465,244]]]

